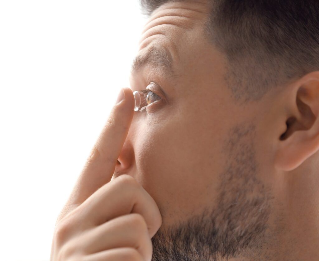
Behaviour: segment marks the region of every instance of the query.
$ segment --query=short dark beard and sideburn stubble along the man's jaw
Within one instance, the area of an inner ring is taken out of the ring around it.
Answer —
[[[216,207],[206,207],[178,225],[161,227],[152,237],[152,261],[217,261],[262,252],[272,196],[257,178],[255,131],[253,123],[230,129],[222,150],[227,160]]]

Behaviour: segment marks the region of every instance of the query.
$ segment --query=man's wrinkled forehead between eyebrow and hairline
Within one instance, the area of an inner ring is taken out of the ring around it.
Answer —
[[[210,11],[206,1],[168,2],[153,11],[142,30],[139,51],[152,45],[167,48],[178,61],[183,48],[196,46]],[[195,44],[195,46],[194,46]]]

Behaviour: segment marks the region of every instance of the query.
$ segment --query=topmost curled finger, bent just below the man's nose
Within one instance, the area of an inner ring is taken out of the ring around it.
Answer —
[[[105,184],[78,206],[71,213],[76,220],[70,223],[74,224],[74,230],[78,227],[88,229],[129,213],[143,216],[150,238],[162,224],[155,200],[133,177],[123,174]],[[87,220],[86,224],[82,220]]]

